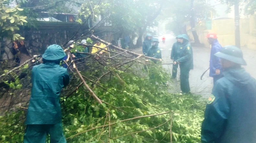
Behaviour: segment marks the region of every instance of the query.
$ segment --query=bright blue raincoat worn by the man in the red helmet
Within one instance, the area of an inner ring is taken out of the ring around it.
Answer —
[[[215,53],[220,52],[222,47],[219,44],[217,39],[215,41],[213,41],[213,43],[211,43],[211,45],[212,45],[212,49],[211,49],[211,56],[210,56],[210,74],[209,74],[209,76],[215,77],[216,69],[219,69],[221,74],[223,72],[221,63],[220,63],[220,58],[216,57],[214,55]]]

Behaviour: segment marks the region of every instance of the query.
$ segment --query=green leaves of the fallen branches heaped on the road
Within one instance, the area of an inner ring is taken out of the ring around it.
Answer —
[[[130,64],[133,64],[132,67]],[[103,88],[95,83],[87,82],[95,94],[104,101],[102,105],[93,100],[89,92],[82,87],[71,97],[67,99],[62,97],[64,100],[62,104],[63,130],[67,141],[70,143],[170,142],[170,112],[160,116],[121,120],[173,111],[173,141],[175,143],[200,142],[201,122],[206,104],[200,96],[170,93],[171,89],[162,84],[167,82],[169,76],[159,65],[147,64],[144,67],[138,62],[130,64],[123,66],[122,70],[111,69],[113,74],[119,75],[120,78],[106,75],[98,82]],[[128,67],[130,68],[127,69]],[[90,70],[82,74],[95,81],[97,75],[106,72],[108,72],[107,67],[105,70]],[[76,80],[70,84],[70,87],[75,86]],[[10,112],[0,118],[0,132],[3,133],[0,142],[22,140],[24,120],[17,121],[24,117],[25,113],[20,110]],[[114,123],[110,131],[109,119],[111,123]],[[163,124],[165,122],[167,123]],[[102,125],[106,126],[97,128]],[[127,135],[159,125],[162,126]],[[92,130],[87,131],[89,129]]]

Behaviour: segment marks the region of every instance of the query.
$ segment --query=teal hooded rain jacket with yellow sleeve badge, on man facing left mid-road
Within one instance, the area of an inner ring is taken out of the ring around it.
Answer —
[[[178,60],[180,68],[192,70],[193,69],[193,51],[192,46],[189,44],[189,38],[186,34],[180,35],[178,38],[183,38],[183,43],[180,44],[178,50]]]

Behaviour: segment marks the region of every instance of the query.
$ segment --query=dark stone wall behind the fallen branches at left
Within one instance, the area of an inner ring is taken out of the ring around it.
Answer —
[[[90,32],[87,32],[87,26],[81,27],[81,25],[79,24],[61,22],[40,22],[40,26],[38,27],[38,29],[24,28],[19,31],[19,33],[23,37],[25,37],[24,43],[30,56],[43,54],[46,48],[51,44],[58,44],[63,46],[70,39],[75,40],[83,33],[86,34],[82,36],[82,39],[86,39],[87,37],[90,37],[91,34]],[[115,32],[112,31],[109,27],[96,27],[94,29],[94,34],[96,36],[99,36],[100,38],[108,42],[118,39],[118,37],[114,36],[116,34],[113,33]],[[5,49],[1,56],[2,59],[0,60],[12,59],[13,55],[10,52],[12,48],[12,41],[4,39],[4,41],[0,43],[0,46],[2,47],[2,49]]]

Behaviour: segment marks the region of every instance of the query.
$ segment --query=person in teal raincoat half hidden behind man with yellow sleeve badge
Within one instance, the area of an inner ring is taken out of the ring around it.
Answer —
[[[175,42],[173,45],[172,45],[172,48],[171,48],[171,60],[172,61],[176,61],[178,60],[178,57],[179,57],[179,51],[180,51],[180,39],[178,38],[180,37],[180,35],[178,35],[176,37],[176,40],[177,42]],[[173,64],[172,65],[172,78],[173,79],[176,79],[177,77],[177,71],[178,71],[178,67],[179,65],[178,64]]]

